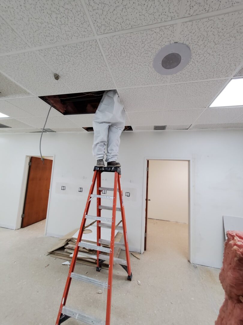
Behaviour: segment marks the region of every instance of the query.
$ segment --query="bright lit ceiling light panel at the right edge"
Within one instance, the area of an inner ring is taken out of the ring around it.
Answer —
[[[209,107],[243,106],[243,78],[231,79]]]

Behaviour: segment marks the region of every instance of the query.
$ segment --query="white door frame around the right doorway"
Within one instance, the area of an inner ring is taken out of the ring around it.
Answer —
[[[143,203],[142,203],[142,234],[141,234],[141,253],[144,253],[145,244],[145,209],[146,209],[146,186],[147,186],[147,161],[149,160],[173,160],[173,161],[187,161],[188,162],[188,261],[192,263],[192,206],[194,197],[192,193],[193,174],[192,171],[192,159],[191,158],[178,158],[178,157],[145,157],[144,158],[144,182],[143,182]]]

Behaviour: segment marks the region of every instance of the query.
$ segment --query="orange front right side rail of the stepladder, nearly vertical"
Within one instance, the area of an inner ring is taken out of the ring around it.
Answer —
[[[113,199],[111,235],[110,235],[110,260],[109,260],[109,276],[108,276],[107,305],[106,305],[106,325],[110,325],[111,289],[112,289],[114,242],[115,242],[115,227],[116,227],[117,183],[118,183],[118,173],[115,172],[114,194],[113,194],[114,199]]]

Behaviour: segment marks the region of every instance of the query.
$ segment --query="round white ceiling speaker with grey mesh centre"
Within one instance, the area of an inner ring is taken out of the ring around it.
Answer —
[[[160,74],[175,74],[184,69],[190,60],[190,47],[183,43],[173,43],[158,51],[154,58],[153,67]]]

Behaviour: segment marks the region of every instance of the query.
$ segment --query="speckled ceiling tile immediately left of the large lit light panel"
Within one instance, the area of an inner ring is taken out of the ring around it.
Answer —
[[[185,110],[207,107],[226,80],[168,85],[164,110]]]

